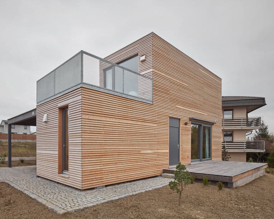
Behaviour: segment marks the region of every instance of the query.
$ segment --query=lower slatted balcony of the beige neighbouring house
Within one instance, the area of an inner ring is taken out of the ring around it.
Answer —
[[[229,152],[264,152],[265,142],[264,141],[232,141],[222,142],[222,146],[225,146]]]

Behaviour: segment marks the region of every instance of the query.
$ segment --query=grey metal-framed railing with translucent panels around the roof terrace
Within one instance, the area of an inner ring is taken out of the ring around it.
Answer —
[[[152,103],[152,79],[80,51],[37,81],[37,104],[79,87]]]

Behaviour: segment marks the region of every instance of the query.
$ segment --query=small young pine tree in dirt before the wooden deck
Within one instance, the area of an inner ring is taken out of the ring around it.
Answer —
[[[179,162],[174,172],[174,181],[171,181],[168,184],[170,189],[179,193],[179,206],[181,206],[181,196],[183,189],[185,189],[188,184],[191,184],[191,175],[186,169],[186,166]]]

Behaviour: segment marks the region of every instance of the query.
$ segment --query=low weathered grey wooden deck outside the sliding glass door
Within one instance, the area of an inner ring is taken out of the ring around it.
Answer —
[[[206,176],[209,180],[227,182],[229,187],[246,184],[257,177],[264,175],[265,163],[247,163],[234,161],[211,161],[187,165],[187,170],[196,179]],[[163,173],[173,174],[175,167],[164,169]]]

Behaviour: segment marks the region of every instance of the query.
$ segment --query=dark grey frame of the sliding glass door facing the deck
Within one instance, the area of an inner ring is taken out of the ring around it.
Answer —
[[[192,124],[200,126],[200,133],[199,133],[200,159],[191,160],[191,156],[190,156],[191,164],[192,163],[197,163],[197,162],[211,161],[212,160],[212,125],[207,124],[207,123],[200,123],[200,122],[191,122],[190,125],[192,125]],[[205,159],[203,159],[203,126],[210,127],[210,158],[205,158]],[[191,151],[191,146],[190,146],[190,151]],[[191,152],[190,152],[190,154],[191,154]]]

